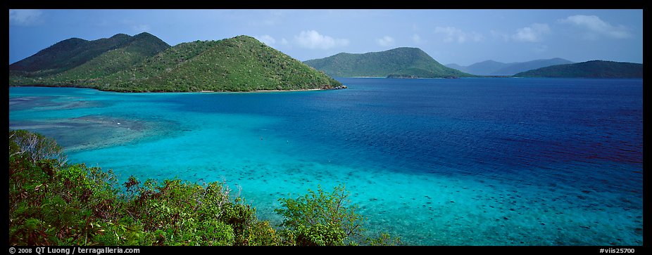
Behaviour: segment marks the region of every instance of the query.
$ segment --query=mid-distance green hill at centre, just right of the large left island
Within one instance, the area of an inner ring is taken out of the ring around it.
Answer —
[[[335,77],[457,78],[472,77],[441,65],[420,48],[394,48],[363,54],[339,53],[304,63]]]

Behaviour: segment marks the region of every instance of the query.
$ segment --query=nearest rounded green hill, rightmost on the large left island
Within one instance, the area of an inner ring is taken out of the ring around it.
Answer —
[[[255,91],[341,86],[339,81],[247,36],[180,44],[99,83],[132,91]]]

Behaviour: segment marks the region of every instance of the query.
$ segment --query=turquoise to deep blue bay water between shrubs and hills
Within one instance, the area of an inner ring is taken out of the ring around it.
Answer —
[[[11,87],[9,126],[70,162],[225,181],[260,218],[343,183],[410,245],[642,245],[641,79],[364,79],[349,89]]]

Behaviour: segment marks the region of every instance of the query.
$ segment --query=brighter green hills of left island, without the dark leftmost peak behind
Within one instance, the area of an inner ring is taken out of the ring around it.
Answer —
[[[342,87],[339,81],[253,37],[193,41],[163,51],[152,48],[155,47],[146,41],[136,41],[66,72],[36,79],[10,77],[10,85],[78,86],[129,92]],[[158,53],[144,58],[145,52]]]

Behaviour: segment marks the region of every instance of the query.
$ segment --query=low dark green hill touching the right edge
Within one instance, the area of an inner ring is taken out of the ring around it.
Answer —
[[[591,60],[520,72],[514,77],[643,78],[643,64]]]

